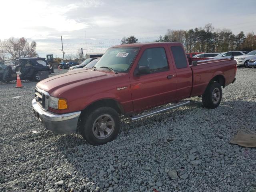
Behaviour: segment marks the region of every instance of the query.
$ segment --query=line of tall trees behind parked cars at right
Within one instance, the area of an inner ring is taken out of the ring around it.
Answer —
[[[204,28],[171,30],[156,42],[180,42],[187,52],[226,52],[231,50],[251,51],[256,49],[256,35],[243,31],[234,35],[229,29],[214,29],[211,23]]]

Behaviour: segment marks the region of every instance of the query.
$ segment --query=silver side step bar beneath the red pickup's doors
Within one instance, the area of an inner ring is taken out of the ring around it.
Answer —
[[[148,117],[148,116],[151,116],[151,115],[155,115],[155,114],[158,114],[158,113],[165,112],[165,111],[170,110],[170,109],[175,109],[175,108],[187,105],[189,103],[190,103],[190,101],[184,101],[184,102],[174,104],[172,106],[163,107],[163,108],[156,109],[156,110],[153,110],[153,111],[150,111],[150,112],[147,112],[147,113],[143,113],[143,114],[140,114],[140,115],[136,115],[136,116],[131,116],[130,120],[135,121],[135,120],[138,120],[138,119],[141,119],[141,118],[144,118],[144,117]]]

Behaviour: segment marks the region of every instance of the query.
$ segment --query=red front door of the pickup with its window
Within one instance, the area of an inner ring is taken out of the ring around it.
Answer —
[[[150,74],[130,76],[134,110],[170,102],[176,98],[176,72],[170,69],[164,47],[144,50],[138,66],[148,66]]]

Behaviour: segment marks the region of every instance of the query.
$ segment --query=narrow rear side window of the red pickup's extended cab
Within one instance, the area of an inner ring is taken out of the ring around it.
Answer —
[[[187,60],[181,46],[172,46],[172,55],[177,69],[186,68]]]

